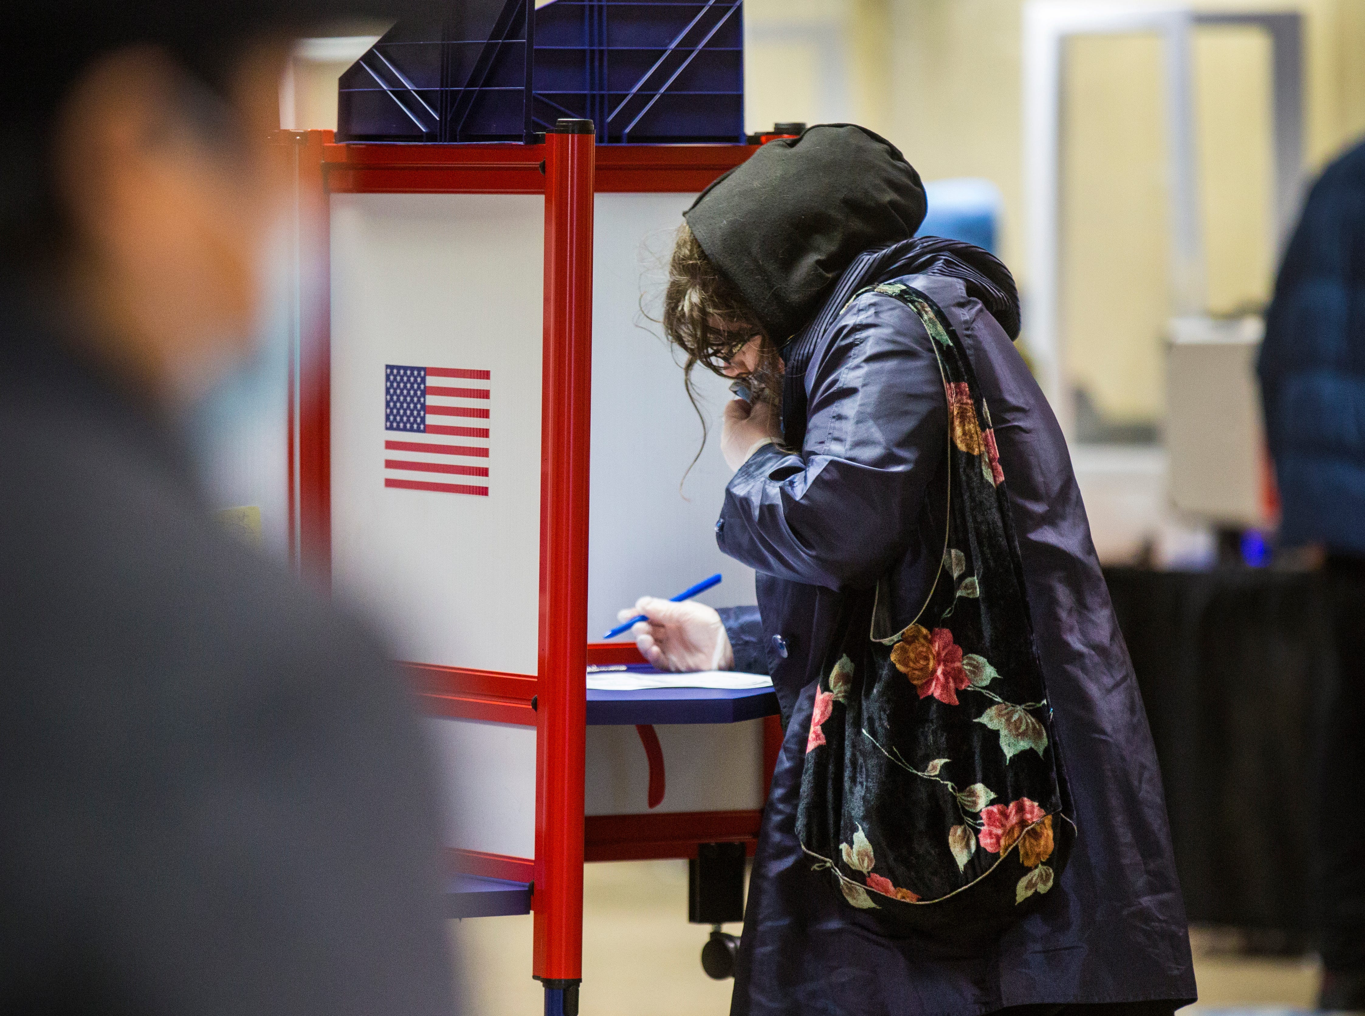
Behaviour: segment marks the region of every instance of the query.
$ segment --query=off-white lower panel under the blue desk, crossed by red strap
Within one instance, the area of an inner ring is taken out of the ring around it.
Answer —
[[[635,727],[588,727],[583,810],[590,816],[748,811],[763,807],[763,721],[655,727],[663,801],[648,806],[650,764]]]

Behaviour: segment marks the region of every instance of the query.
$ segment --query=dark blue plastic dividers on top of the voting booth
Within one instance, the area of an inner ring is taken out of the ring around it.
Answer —
[[[337,140],[531,140],[561,117],[602,145],[743,142],[741,0],[452,0],[337,93]]]

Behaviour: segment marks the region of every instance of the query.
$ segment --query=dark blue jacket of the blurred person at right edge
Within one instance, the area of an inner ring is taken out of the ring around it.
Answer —
[[[1314,184],[1261,346],[1286,544],[1365,556],[1365,145]]]

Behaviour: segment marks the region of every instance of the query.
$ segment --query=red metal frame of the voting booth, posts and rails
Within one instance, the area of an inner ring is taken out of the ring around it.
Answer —
[[[332,194],[543,194],[545,352],[541,473],[538,674],[410,664],[435,716],[536,727],[535,858],[452,851],[472,874],[534,881],[535,956],[542,979],[581,976],[583,862],[695,856],[699,843],[752,852],[759,811],[583,816],[587,663],[639,660],[633,645],[587,646],[588,428],[591,395],[592,195],[696,192],[743,162],[747,145],[597,146],[549,134],[545,145],[337,145],[330,131],[283,135],[292,145],[298,241],[299,355],[289,374],[289,554],[330,585]],[[531,698],[538,698],[532,708]],[[781,730],[768,717],[764,773]],[[770,779],[770,777],[768,777]],[[764,784],[767,784],[767,779]],[[764,786],[764,794],[767,787]]]

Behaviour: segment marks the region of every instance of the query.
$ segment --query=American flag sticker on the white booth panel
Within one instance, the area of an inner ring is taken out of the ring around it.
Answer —
[[[489,371],[385,365],[385,487],[489,496],[490,379]]]

